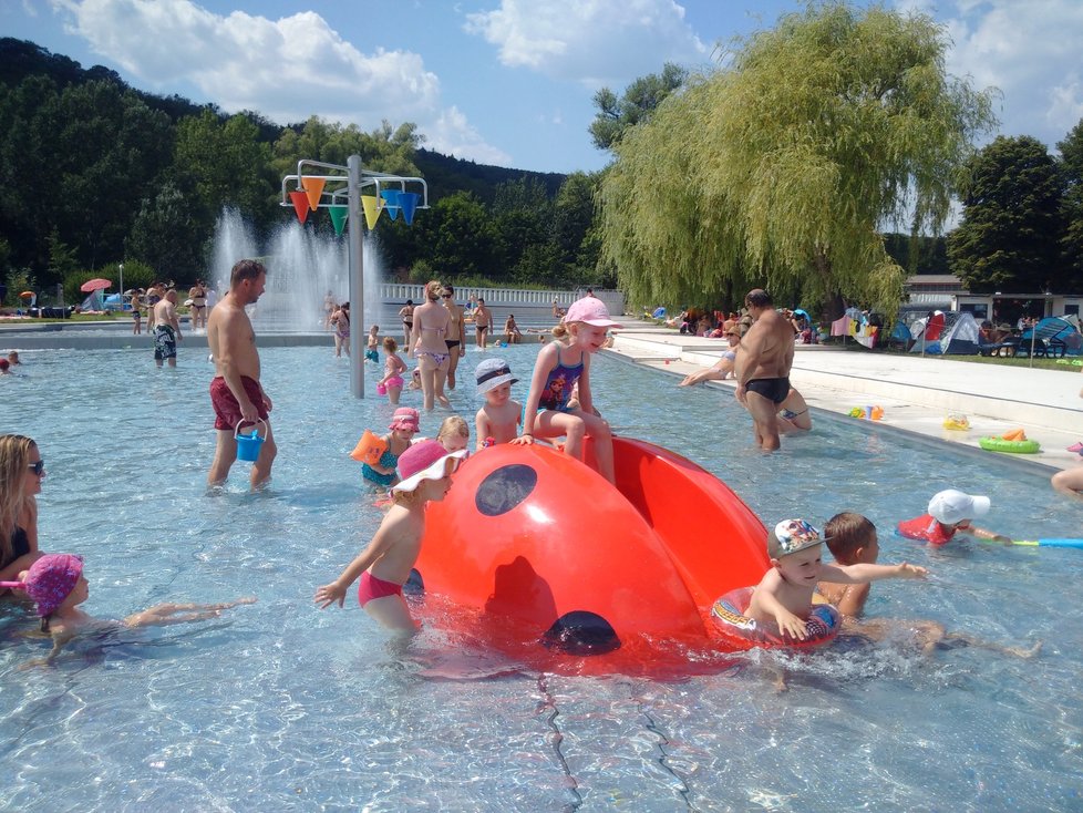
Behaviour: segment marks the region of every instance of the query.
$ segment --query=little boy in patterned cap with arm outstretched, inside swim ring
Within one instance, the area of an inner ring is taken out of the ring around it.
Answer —
[[[924,567],[900,565],[825,565],[824,539],[804,519],[783,519],[767,534],[771,569],[756,585],[744,615],[756,621],[774,621],[783,635],[807,637],[805,625],[812,613],[813,594],[823,578],[853,585],[885,578],[925,578]]]

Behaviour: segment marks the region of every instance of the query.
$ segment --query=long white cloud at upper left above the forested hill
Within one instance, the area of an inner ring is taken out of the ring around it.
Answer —
[[[286,124],[319,115],[371,130],[411,121],[426,144],[488,162],[487,145],[454,107],[440,80],[409,51],[361,53],[312,11],[270,20],[216,14],[190,0],[50,0],[70,33],[153,88],[188,83],[227,112],[258,111]]]

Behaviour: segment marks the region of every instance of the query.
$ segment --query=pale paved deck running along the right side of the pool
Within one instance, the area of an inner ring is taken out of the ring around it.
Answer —
[[[723,339],[626,323],[629,329],[617,335],[611,352],[674,375],[710,367],[728,347]],[[878,404],[886,426],[973,449],[980,449],[979,438],[1021,426],[1029,439],[1042,444],[1042,451],[1000,457],[1050,469],[1081,462],[1079,454],[1065,451],[1083,440],[1083,375],[1072,372],[798,344],[791,382],[814,412],[845,415],[854,406]],[[730,381],[705,385],[734,388]],[[949,412],[967,415],[970,431],[943,429]]]

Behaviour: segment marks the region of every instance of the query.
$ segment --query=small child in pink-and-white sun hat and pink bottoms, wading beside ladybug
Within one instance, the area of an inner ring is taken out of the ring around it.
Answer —
[[[412,635],[416,625],[402,597],[402,586],[421,553],[425,533],[425,504],[443,500],[451,475],[466,456],[465,450],[448,452],[437,441],[421,441],[399,459],[400,481],[391,487],[391,508],[369,546],[334,582],[317,588],[313,600],[321,609],[342,606],[350,585],[361,579],[358,601],[383,627]]]

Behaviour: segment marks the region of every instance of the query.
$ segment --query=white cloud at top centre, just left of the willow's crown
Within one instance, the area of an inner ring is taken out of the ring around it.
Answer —
[[[591,89],[710,56],[673,0],[502,0],[466,19],[466,31],[496,45],[503,64]]]

